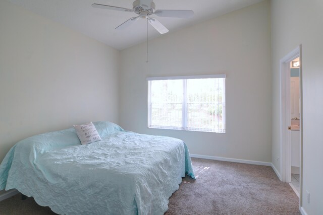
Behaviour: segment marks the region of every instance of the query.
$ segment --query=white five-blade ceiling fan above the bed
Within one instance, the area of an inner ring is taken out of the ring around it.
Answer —
[[[132,9],[100,4],[92,4],[92,7],[115,11],[134,12],[138,14],[138,16],[128,19],[126,22],[116,27],[116,29],[125,29],[126,27],[136,22],[139,18],[143,18],[147,19],[147,22],[152,27],[154,27],[160,34],[165,34],[169,30],[156,18],[149,17],[150,15],[175,18],[191,18],[194,15],[194,12],[191,10],[155,10],[155,4],[152,2],[152,0],[136,0],[132,4]]]

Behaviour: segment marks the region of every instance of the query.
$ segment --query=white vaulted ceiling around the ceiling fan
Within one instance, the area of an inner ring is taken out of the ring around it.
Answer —
[[[102,43],[122,50],[146,40],[147,24],[139,19],[123,30],[115,28],[134,13],[93,8],[93,3],[132,9],[132,0],[6,0],[40,16],[61,23]],[[263,0],[154,0],[156,10],[193,10],[193,18],[155,17],[171,32],[250,6]],[[148,25],[148,38],[159,34]]]

